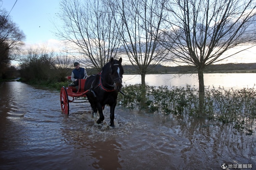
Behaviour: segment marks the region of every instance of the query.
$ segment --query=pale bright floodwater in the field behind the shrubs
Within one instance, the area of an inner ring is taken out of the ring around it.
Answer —
[[[147,74],[145,81],[150,86],[198,88],[197,74]],[[140,75],[123,75],[125,84],[141,83]],[[252,88],[256,84],[256,73],[205,73],[205,88],[243,89]]]

